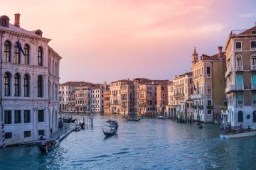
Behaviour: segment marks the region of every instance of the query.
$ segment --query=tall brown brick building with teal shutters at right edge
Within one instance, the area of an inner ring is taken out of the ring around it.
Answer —
[[[256,26],[232,30],[225,44],[228,122],[256,125]]]

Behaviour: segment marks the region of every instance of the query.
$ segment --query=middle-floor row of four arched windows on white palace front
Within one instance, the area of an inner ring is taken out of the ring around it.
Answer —
[[[21,75],[16,73],[14,74],[14,96],[21,96],[21,89],[23,89],[23,96],[30,96],[30,77],[28,74],[25,74],[23,77],[23,88],[21,83]],[[43,97],[43,77],[38,76],[37,81],[37,91],[38,97]],[[11,96],[11,74],[6,72],[4,74],[4,96]]]

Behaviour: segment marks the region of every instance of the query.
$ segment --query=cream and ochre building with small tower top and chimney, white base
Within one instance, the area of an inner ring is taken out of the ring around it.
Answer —
[[[192,55],[194,119],[205,123],[220,121],[220,106],[225,101],[225,52],[218,47],[218,54],[201,55],[196,48]]]

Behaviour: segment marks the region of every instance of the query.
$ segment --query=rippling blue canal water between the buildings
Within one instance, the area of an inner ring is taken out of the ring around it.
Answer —
[[[109,118],[119,128],[106,138],[102,128]],[[256,137],[220,140],[220,132],[212,124],[198,129],[172,120],[127,122],[97,114],[92,129],[72,132],[48,154],[36,146],[7,147],[0,152],[0,169],[256,169]]]

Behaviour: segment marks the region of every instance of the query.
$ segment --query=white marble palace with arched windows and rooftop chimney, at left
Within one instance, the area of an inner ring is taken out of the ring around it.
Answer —
[[[41,30],[20,28],[0,16],[0,121],[5,125],[5,145],[50,137],[58,130],[60,55],[48,46]],[[2,145],[2,135],[0,146]]]

